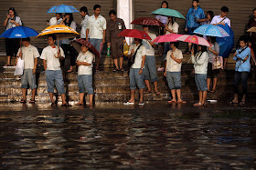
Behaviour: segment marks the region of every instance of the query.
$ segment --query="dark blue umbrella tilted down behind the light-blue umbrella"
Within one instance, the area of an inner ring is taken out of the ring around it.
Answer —
[[[216,38],[219,44],[219,56],[228,58],[234,47],[234,32],[227,24],[218,26],[222,27],[229,34],[229,36]]]

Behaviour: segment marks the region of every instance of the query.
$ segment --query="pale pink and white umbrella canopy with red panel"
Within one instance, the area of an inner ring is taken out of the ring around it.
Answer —
[[[176,40],[187,42],[187,43],[193,43],[193,44],[197,44],[197,45],[211,46],[208,43],[208,40],[206,40],[205,38],[202,38],[200,36],[197,36],[197,35],[181,35],[178,38],[176,38]]]

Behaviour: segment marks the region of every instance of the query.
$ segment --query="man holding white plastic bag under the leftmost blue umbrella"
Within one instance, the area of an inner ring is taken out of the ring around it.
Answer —
[[[29,103],[35,103],[36,95],[36,71],[37,71],[37,58],[40,56],[36,46],[30,45],[30,38],[22,39],[22,46],[18,49],[17,57],[21,57],[24,60],[24,72],[21,76],[21,88],[23,99],[20,103],[26,103],[26,94],[27,94],[27,84],[32,90],[32,97]],[[17,62],[17,60],[16,60]]]

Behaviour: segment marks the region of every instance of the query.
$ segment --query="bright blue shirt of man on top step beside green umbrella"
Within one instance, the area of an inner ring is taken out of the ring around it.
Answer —
[[[198,27],[200,23],[198,23],[198,19],[204,19],[206,18],[204,10],[200,7],[197,6],[197,10],[194,7],[191,7],[186,16],[186,25],[185,28],[194,28]]]

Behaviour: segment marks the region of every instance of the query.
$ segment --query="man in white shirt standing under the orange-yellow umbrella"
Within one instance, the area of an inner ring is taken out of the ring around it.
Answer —
[[[48,94],[51,100],[51,106],[56,106],[53,100],[54,85],[56,85],[58,93],[61,95],[62,105],[71,106],[66,102],[65,89],[62,71],[60,69],[60,60],[63,60],[65,55],[61,47],[55,45],[56,35],[48,35],[48,46],[43,49],[41,59],[43,59],[44,68],[46,71],[46,79],[48,85]]]

